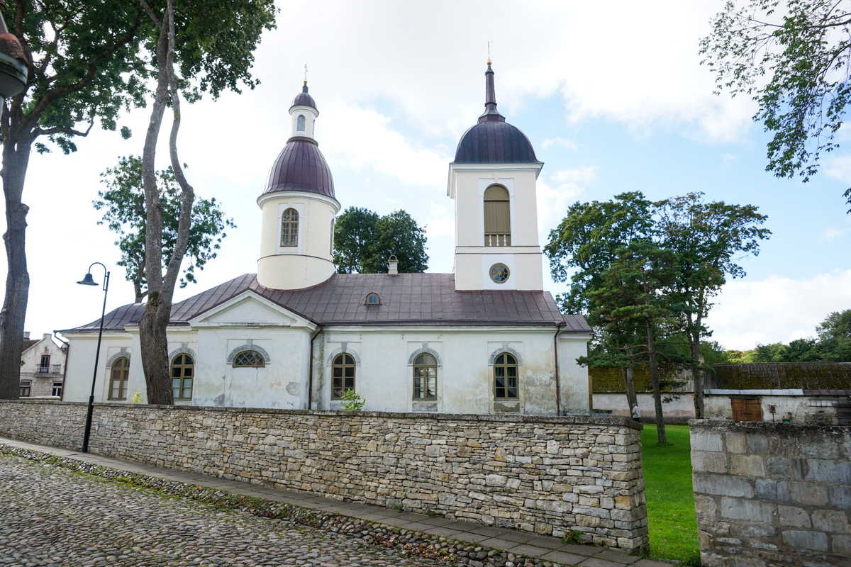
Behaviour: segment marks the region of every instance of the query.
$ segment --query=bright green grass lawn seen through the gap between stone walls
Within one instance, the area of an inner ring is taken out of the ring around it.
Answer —
[[[688,425],[666,425],[669,445],[658,445],[656,426],[642,432],[650,554],[697,564],[700,547],[691,481]]]

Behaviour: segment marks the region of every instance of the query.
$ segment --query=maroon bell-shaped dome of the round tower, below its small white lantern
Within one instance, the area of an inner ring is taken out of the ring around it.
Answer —
[[[336,199],[331,169],[315,141],[300,136],[287,141],[269,170],[263,193],[275,191],[304,191]]]

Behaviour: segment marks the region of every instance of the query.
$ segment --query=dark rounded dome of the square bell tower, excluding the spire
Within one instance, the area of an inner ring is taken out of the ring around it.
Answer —
[[[508,122],[479,122],[458,143],[454,163],[539,163],[526,134]]]

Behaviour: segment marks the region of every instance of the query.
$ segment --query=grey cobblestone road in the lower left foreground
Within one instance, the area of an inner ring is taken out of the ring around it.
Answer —
[[[444,565],[0,455],[0,565]]]

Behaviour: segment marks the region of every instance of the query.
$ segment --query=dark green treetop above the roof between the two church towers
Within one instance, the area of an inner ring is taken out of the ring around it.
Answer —
[[[338,274],[380,274],[395,255],[399,273],[428,269],[426,227],[405,211],[380,217],[366,208],[349,207],[334,224],[334,264]]]

